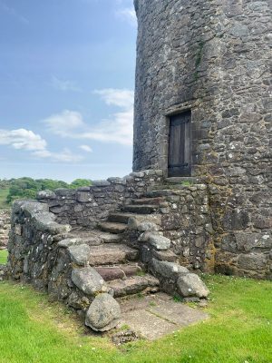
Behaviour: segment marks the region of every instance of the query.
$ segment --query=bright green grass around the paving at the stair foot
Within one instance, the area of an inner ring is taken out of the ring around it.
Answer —
[[[0,283],[1,363],[271,363],[272,283],[205,276],[210,319],[157,341],[116,348],[86,335],[63,305],[30,287]],[[152,329],[152,327],[151,327]]]

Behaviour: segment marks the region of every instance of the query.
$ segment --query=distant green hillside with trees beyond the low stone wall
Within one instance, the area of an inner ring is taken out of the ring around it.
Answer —
[[[53,191],[57,188],[77,189],[92,185],[89,179],[76,179],[71,184],[52,179],[18,178],[0,180],[0,209],[8,208],[17,199],[34,199],[38,191]]]

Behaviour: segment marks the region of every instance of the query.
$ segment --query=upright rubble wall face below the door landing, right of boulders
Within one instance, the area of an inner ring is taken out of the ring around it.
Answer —
[[[212,272],[214,269],[213,229],[209,214],[207,186],[184,186],[168,191],[161,217],[164,236],[171,240],[180,265],[189,270]]]

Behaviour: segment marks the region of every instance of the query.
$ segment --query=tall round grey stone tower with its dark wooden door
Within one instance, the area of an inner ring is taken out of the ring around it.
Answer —
[[[133,170],[204,178],[217,269],[271,278],[271,1],[134,3]]]

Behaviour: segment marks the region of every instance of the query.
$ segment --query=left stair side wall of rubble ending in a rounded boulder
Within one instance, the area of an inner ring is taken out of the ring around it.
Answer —
[[[94,330],[114,328],[121,311],[112,290],[96,270],[74,259],[71,247],[83,241],[67,239],[71,226],[55,220],[45,203],[15,201],[6,277],[47,291],[51,299],[75,309]]]

